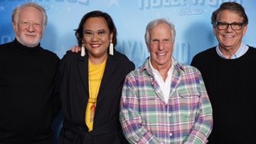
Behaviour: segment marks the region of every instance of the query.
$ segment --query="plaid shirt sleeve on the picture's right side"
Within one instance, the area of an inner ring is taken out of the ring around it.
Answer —
[[[199,111],[196,117],[194,127],[185,139],[184,143],[206,143],[207,138],[210,135],[210,132],[213,129],[213,110],[208,98],[206,88],[203,83],[203,78],[201,77],[200,72],[197,72],[198,77],[200,78],[200,104]]]

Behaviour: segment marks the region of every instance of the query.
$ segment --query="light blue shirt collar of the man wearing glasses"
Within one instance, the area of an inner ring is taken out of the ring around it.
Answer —
[[[235,52],[235,54],[231,55],[230,59],[239,58],[242,55],[245,55],[245,53],[248,51],[248,49],[249,49],[248,45],[241,43],[239,49]],[[221,58],[228,59],[225,57],[225,55],[222,54],[222,52],[220,52],[219,45],[216,46],[216,52]]]

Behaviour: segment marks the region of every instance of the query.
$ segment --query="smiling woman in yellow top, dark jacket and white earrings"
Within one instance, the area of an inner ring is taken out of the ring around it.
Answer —
[[[82,52],[67,52],[57,78],[64,111],[59,143],[126,143],[120,97],[134,64],[114,50],[114,22],[107,13],[91,11],[82,17],[75,36]]]

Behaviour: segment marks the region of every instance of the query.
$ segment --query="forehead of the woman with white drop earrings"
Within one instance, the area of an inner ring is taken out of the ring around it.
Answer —
[[[85,20],[84,28],[85,30],[98,30],[98,29],[109,30],[107,26],[107,21],[104,19],[104,17],[88,18],[87,20]]]

